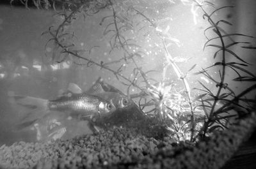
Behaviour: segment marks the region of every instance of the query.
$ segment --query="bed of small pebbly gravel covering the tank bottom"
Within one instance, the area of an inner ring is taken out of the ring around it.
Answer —
[[[0,147],[1,168],[220,168],[256,126],[256,115],[189,145],[134,128],[113,128],[55,143]]]

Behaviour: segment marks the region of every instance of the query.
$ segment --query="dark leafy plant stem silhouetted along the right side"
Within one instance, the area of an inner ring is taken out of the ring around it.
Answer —
[[[256,84],[254,83],[252,86],[245,89],[240,94],[235,94],[235,92],[228,87],[228,78],[227,78],[227,69],[233,70],[238,77],[234,78],[234,81],[255,81],[255,75],[251,73],[250,71],[246,70],[246,66],[248,66],[248,62],[244,61],[243,58],[239,57],[235,52],[230,50],[230,47],[233,47],[234,45],[247,45],[250,43],[246,41],[234,41],[232,37],[234,36],[244,36],[247,38],[253,38],[252,36],[248,36],[245,34],[239,34],[239,33],[226,33],[222,28],[221,24],[226,24],[232,26],[230,22],[227,20],[214,20],[214,13],[218,12],[219,10],[225,9],[225,8],[233,8],[234,6],[223,6],[221,8],[215,8],[214,4],[210,3],[209,1],[204,1],[202,4],[198,3],[198,1],[194,1],[196,3],[196,6],[198,6],[204,13],[203,17],[207,22],[209,22],[210,26],[205,29],[204,34],[206,32],[212,31],[214,33],[214,37],[209,38],[205,35],[207,38],[207,42],[204,45],[205,47],[214,47],[216,48],[216,52],[214,52],[213,58],[220,58],[220,62],[215,62],[212,66],[209,66],[207,68],[203,68],[200,73],[207,77],[209,80],[214,82],[217,87],[217,92],[212,92],[206,85],[204,85],[202,82],[199,82],[202,85],[202,89],[198,89],[199,91],[202,91],[202,94],[198,97],[199,101],[201,102],[201,105],[198,105],[197,107],[202,107],[205,112],[205,122],[202,129],[200,129],[200,132],[198,133],[198,136],[205,136],[207,133],[211,133],[215,129],[218,128],[227,128],[227,123],[230,122],[229,119],[232,117],[241,117],[244,114],[248,114],[250,112],[250,108],[246,107],[244,103],[241,103],[243,101],[246,101],[247,103],[255,103],[255,99],[244,99],[244,95],[246,95],[248,92],[251,92],[256,89]],[[214,8],[214,11],[211,13],[207,13],[205,11],[205,6],[211,6]],[[229,39],[228,39],[229,38]],[[218,40],[218,41],[214,41]],[[219,45],[220,44],[220,45]],[[255,48],[250,46],[242,46],[242,48]],[[227,61],[227,57],[233,57],[232,60],[234,61]],[[214,68],[214,70],[217,70],[220,78],[213,78],[209,71]],[[245,74],[246,76],[243,76],[241,74]],[[230,82],[231,83],[231,82]],[[218,103],[221,104],[220,107],[218,107]],[[231,114],[230,110],[236,110],[236,113]]]

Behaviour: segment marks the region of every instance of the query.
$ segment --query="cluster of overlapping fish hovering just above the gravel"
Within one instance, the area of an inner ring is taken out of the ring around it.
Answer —
[[[12,98],[16,104],[30,110],[20,119],[16,129],[36,129],[36,140],[42,142],[97,132],[95,122],[102,127],[104,124],[100,125],[100,119],[117,110],[136,107],[132,99],[102,78],[85,92],[71,83],[67,91],[61,91],[54,100],[15,94]]]

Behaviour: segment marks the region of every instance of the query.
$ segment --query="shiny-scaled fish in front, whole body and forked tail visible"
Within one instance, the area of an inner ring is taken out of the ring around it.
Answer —
[[[51,114],[52,111],[64,112],[77,118],[90,118],[93,115],[111,114],[116,109],[111,101],[86,93],[74,93],[72,96],[61,96],[54,100],[19,95],[12,97],[15,99],[15,103],[31,110],[22,117],[21,123],[17,125],[18,128],[31,126],[38,119],[42,119],[49,113]]]

